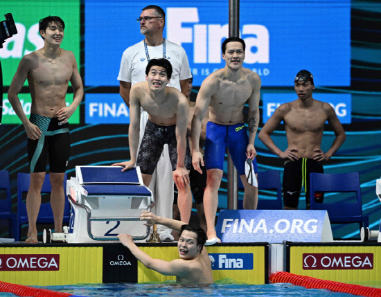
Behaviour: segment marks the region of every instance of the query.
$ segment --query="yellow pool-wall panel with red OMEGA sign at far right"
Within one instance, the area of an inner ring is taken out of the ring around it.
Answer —
[[[380,243],[287,242],[286,251],[287,272],[336,282],[381,284]]]

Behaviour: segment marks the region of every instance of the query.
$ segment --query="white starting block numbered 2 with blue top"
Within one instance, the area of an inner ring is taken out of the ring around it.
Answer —
[[[67,181],[71,204],[69,228],[51,240],[89,243],[113,242],[119,233],[144,240],[150,226],[139,220],[152,207],[152,192],[144,186],[139,166],[121,172],[116,166],[76,166],[76,177]],[[53,234],[55,235],[55,234]]]

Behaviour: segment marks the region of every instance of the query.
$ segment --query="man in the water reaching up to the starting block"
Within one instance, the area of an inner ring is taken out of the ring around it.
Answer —
[[[150,255],[139,249],[131,235],[119,234],[118,238],[122,244],[130,249],[131,253],[143,265],[149,269],[157,271],[164,276],[176,276],[176,281],[180,284],[211,284],[214,282],[211,267],[211,260],[208,252],[204,248],[206,234],[204,230],[195,224],[185,224],[184,222],[158,217],[153,213],[143,210],[141,220],[148,220],[149,224],[162,224],[179,231],[179,241],[177,249],[179,259],[170,262],[161,259],[153,259]]]

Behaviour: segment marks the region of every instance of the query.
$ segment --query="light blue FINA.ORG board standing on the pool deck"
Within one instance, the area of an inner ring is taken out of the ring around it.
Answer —
[[[221,210],[222,242],[333,242],[326,210]]]

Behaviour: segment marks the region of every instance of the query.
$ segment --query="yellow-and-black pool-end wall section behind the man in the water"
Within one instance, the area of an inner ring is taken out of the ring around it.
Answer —
[[[178,258],[177,244],[137,244],[154,258]],[[268,244],[206,247],[215,280],[268,282]],[[0,280],[19,285],[75,285],[175,280],[143,267],[122,244],[0,244]]]

